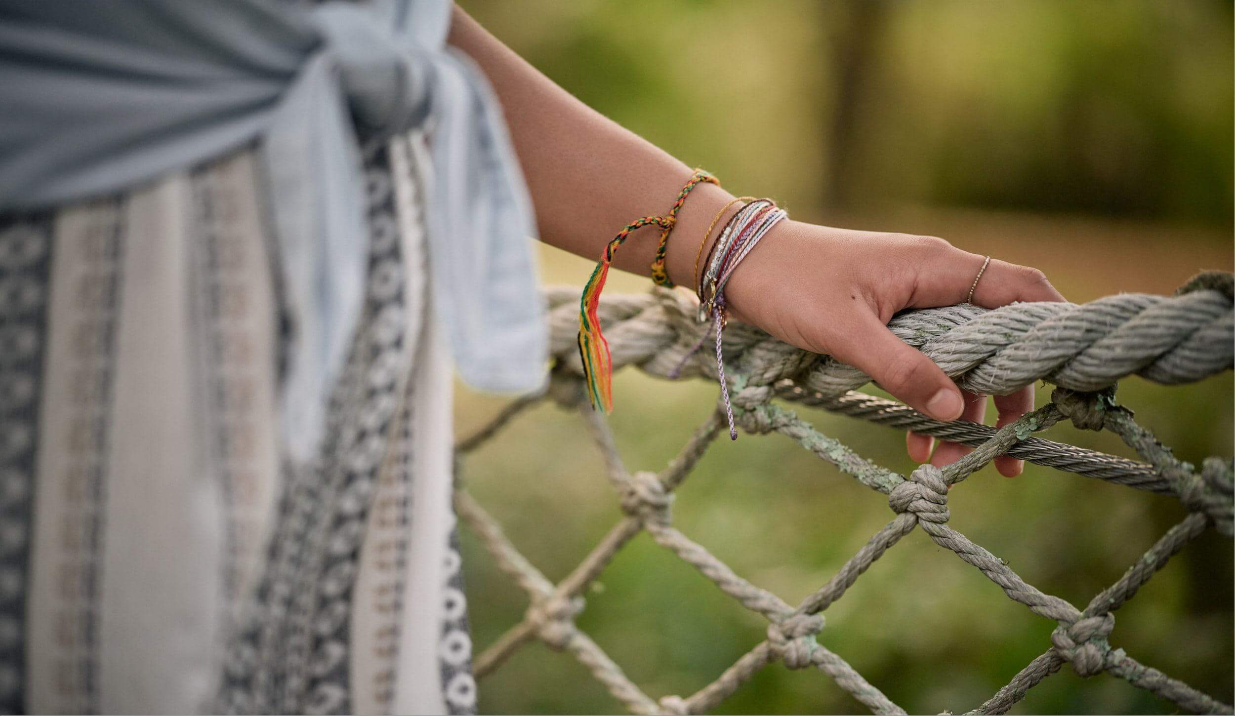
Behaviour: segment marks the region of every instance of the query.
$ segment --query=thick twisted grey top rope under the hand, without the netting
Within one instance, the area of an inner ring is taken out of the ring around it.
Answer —
[[[569,327],[577,316],[569,288],[546,290],[552,326],[551,352],[571,370]],[[695,299],[685,291],[655,289],[646,296],[615,296],[599,309],[611,336],[614,368],[637,364],[668,377],[708,331],[695,318]],[[1194,383],[1233,365],[1235,320],[1230,296],[1199,289],[1177,296],[1119,294],[1088,304],[1013,304],[994,310],[968,304],[900,314],[888,327],[919,348],[963,388],[1008,394],[1036,380],[1097,391],[1128,375],[1166,385]],[[840,396],[871,378],[831,358],[781,343],[751,326],[732,325],[725,353],[758,351],[767,369],[805,368],[793,378],[804,390]],[[784,370],[782,370],[784,372]],[[716,378],[704,356],[687,359],[682,375]]]

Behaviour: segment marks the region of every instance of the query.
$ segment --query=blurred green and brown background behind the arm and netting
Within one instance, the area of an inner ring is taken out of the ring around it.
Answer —
[[[585,102],[735,194],[795,219],[930,233],[1046,272],[1070,300],[1170,293],[1233,264],[1231,2],[1109,0],[463,1]],[[615,227],[616,228],[616,227]],[[542,249],[545,283],[592,264]],[[610,279],[610,291],[648,281]],[[1039,401],[1049,396],[1039,388]],[[466,436],[508,399],[461,386]],[[627,467],[659,469],[711,410],[710,385],[624,370],[613,426]],[[1181,458],[1231,457],[1231,374],[1183,388],[1126,380],[1120,402]],[[890,428],[802,410],[826,435],[908,473]],[[1131,456],[1071,426],[1046,437]],[[473,494],[550,578],[619,520],[574,415],[542,406],[466,464]],[[1029,465],[952,493],[952,526],[1029,583],[1083,605],[1184,511],[1173,499]],[[797,602],[892,516],[887,500],[785,438],[718,441],[674,520],[739,574]],[[526,607],[464,532],[479,652]],[[1231,541],[1207,533],[1118,612],[1112,642],[1233,696]],[[920,531],[826,611],[820,641],[910,712],[976,707],[1050,646],[1053,623]],[[588,594],[579,625],[643,689],[687,695],[763,638],[766,622],[646,536]],[[480,681],[483,712],[620,712],[573,658],[534,643]],[[816,672],[762,670],[722,714],[863,712]],[[1016,712],[1174,706],[1065,669]]]

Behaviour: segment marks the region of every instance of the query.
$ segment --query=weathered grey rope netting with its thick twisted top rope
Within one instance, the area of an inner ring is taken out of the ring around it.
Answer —
[[[551,349],[556,359],[548,390],[543,395],[516,400],[487,427],[462,441],[457,446],[457,463],[519,412],[540,400],[552,399],[580,411],[600,448],[608,479],[618,490],[626,517],[573,572],[553,584],[519,553],[498,522],[464,491],[459,479],[456,490],[459,516],[493,554],[498,567],[530,597],[524,618],[477,657],[477,676],[493,672],[521,644],[540,639],[551,648],[574,654],[615,699],[635,714],[705,712],[732,694],[756,670],[776,660],[790,669],[814,667],[824,672],[874,714],[904,714],[844,658],[820,643],[816,635],[824,627],[823,611],[840,599],[888,548],[920,526],[936,544],[978,568],[1010,599],[1058,625],[1042,654],[969,714],[1005,712],[1066,662],[1082,676],[1103,672],[1114,674],[1186,711],[1231,714],[1229,704],[1141,664],[1108,641],[1114,626],[1113,612],[1172,556],[1209,526],[1231,536],[1235,497],[1231,462],[1207,458],[1197,469],[1174,458],[1170,448],[1132,420],[1131,411],[1114,402],[1114,385],[1126,375],[1181,384],[1230,369],[1235,339],[1230,286],[1229,274],[1208,274],[1200,281],[1191,281],[1172,298],[1123,294],[1079,306],[1019,304],[989,311],[957,305],[894,317],[889,323],[892,330],[931,357],[965,388],[1000,394],[1039,379],[1058,386],[1051,402],[998,430],[966,421],[937,422],[902,404],[855,393],[853,389],[869,380],[861,372],[781,343],[756,328],[734,325],[725,333],[725,354],[732,365],[726,375],[737,423],[747,433],[777,432],[794,439],[868,488],[887,494],[894,512],[894,517],[831,580],[797,606],[739,577],[672,525],[673,490],[718,436],[724,414],[714,411],[695,430],[677,458],[659,473],[629,472],[618,454],[606,420],[588,406],[582,390],[574,342],[578,294],[573,289],[548,289]],[[613,348],[614,367],[635,364],[652,375],[668,375],[705,330],[692,320],[693,301],[693,296],[667,289],[653,289],[650,295],[606,296],[600,305],[600,318]],[[704,375],[715,380],[715,362],[706,356],[695,356],[688,359],[683,375]],[[821,406],[832,412],[957,441],[974,447],[974,451],[944,468],[921,465],[905,479],[820,433],[794,411],[772,402],[773,399]],[[1030,435],[1067,418],[1077,427],[1119,435],[1145,462]],[[1077,609],[1026,584],[1007,563],[948,526],[948,489],[1000,454],[1173,495],[1189,515],[1170,528],[1115,584],[1094,596],[1084,609]],[[574,616],[584,606],[583,590],[641,530],[769,622],[764,641],[715,681],[687,697],[671,695],[652,699],[574,623]]]

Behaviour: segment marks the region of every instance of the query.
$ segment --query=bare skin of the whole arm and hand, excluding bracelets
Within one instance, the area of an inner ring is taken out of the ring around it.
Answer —
[[[541,239],[589,259],[640,216],[668,209],[693,169],[634,132],[592,110],[454,9],[448,43],[479,65],[498,94],[536,209]],[[667,268],[692,285],[704,231],[732,196],[699,184],[678,215]],[[737,211],[730,207],[706,237]],[[655,227],[638,230],[616,252],[614,267],[648,275]],[[706,251],[706,247],[705,247]],[[920,352],[887,330],[904,309],[961,302],[983,257],[942,238],[851,231],[783,221],[734,272],[725,298],[730,317],[763,328],[799,348],[856,365],[905,404],[944,421],[984,422],[987,399],[961,390]],[[1013,301],[1062,301],[1042,272],[992,258],[973,302],[994,309]],[[997,426],[1034,407],[1032,386],[994,396]],[[956,462],[971,448],[909,433],[910,458],[935,465]],[[934,451],[934,454],[932,454]],[[995,468],[1013,477],[1023,460],[999,457]]]

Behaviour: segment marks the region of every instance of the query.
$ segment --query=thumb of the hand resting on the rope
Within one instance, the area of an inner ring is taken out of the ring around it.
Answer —
[[[863,370],[881,388],[935,420],[961,417],[965,409],[961,389],[934,360],[897,338],[873,315],[832,356]]]

